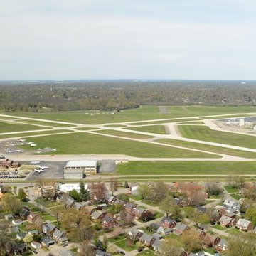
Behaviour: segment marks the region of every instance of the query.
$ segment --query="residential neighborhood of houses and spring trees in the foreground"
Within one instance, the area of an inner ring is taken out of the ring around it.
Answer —
[[[255,184],[241,189],[215,183],[214,190],[208,183],[127,185],[45,180],[18,191],[1,185],[6,252],[216,256],[227,255],[229,242],[240,236],[255,240],[255,201],[247,196]]]

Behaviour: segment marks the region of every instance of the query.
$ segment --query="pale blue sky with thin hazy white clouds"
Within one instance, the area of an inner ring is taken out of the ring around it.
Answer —
[[[0,0],[0,80],[256,80],[255,0]]]

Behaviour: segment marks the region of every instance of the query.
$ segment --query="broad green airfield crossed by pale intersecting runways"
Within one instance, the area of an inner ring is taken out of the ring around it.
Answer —
[[[56,149],[55,157],[81,154],[100,159],[110,155],[122,160],[126,156],[129,163],[116,169],[120,177],[142,175],[148,180],[156,178],[150,175],[174,175],[177,179],[206,175],[213,179],[243,174],[256,178],[256,133],[226,131],[213,122],[247,116],[256,116],[256,107],[167,106],[164,112],[157,106],[122,112],[1,112],[0,143],[29,139],[37,146],[21,146],[26,155],[50,147]]]

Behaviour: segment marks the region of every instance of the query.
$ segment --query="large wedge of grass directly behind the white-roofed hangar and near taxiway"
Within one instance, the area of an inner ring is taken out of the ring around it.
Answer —
[[[137,157],[185,157],[185,158],[218,158],[213,154],[201,154],[196,151],[176,149],[146,142],[129,141],[97,134],[77,132],[46,137],[34,137],[33,142],[45,148],[57,149],[55,154],[125,154]]]

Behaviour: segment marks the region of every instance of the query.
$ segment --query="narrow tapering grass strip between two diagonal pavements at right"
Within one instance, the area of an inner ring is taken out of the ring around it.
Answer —
[[[157,139],[156,142],[160,142],[163,144],[169,144],[174,146],[183,146],[188,149],[198,149],[203,151],[209,151],[212,153],[219,153],[219,154],[227,154],[230,156],[239,156],[239,157],[245,157],[245,158],[256,158],[256,153],[249,152],[249,151],[242,151],[237,149],[228,149],[222,146],[211,146],[196,142],[184,142],[178,139]]]

